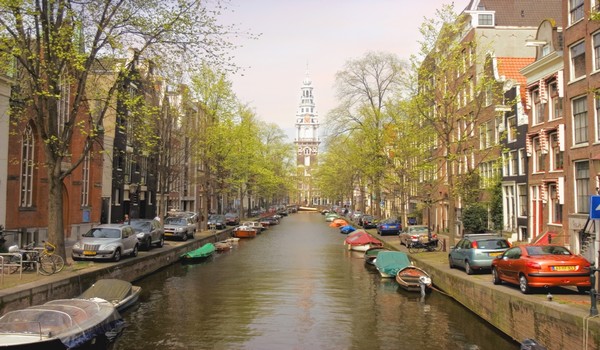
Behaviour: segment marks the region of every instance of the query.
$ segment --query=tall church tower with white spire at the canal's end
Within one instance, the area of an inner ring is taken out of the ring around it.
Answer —
[[[320,195],[312,184],[312,170],[317,166],[319,154],[319,115],[315,107],[312,81],[306,77],[302,82],[300,105],[296,112],[296,138],[298,168],[298,203],[300,205],[321,204]]]

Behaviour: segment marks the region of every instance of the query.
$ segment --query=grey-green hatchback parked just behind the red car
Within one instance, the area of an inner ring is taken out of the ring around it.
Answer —
[[[495,234],[469,234],[450,247],[448,265],[450,268],[460,266],[468,275],[477,270],[489,270],[492,260],[502,255],[510,243],[506,238]]]

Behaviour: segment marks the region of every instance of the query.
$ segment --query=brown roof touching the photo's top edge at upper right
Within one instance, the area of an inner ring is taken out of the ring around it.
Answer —
[[[471,0],[465,11],[495,11],[496,26],[537,27],[544,19],[562,23],[561,0]]]

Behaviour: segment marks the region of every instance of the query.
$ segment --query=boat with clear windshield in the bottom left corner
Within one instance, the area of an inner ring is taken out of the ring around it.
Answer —
[[[124,321],[104,299],[59,299],[0,317],[2,349],[106,348]]]

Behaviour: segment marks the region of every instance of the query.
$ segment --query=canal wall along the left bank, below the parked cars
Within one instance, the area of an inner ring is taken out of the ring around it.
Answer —
[[[80,295],[94,282],[103,278],[117,278],[135,281],[179,260],[185,252],[201,247],[208,242],[217,242],[231,236],[231,230],[217,234],[201,235],[185,243],[153,248],[136,258],[124,257],[118,263],[94,262],[79,271],[63,271],[56,275],[44,276],[34,282],[0,290],[0,315],[39,305],[54,299],[73,298]],[[167,248],[167,249],[165,249]]]

